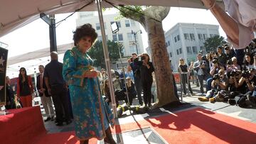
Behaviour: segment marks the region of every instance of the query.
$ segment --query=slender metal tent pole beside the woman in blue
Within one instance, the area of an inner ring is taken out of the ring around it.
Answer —
[[[105,65],[107,68],[107,77],[109,79],[109,84],[110,84],[110,96],[111,96],[111,101],[112,101],[112,109],[114,113],[114,118],[117,118],[117,104],[115,101],[114,97],[114,87],[113,87],[113,82],[112,82],[112,74],[111,74],[111,67],[110,67],[110,57],[108,55],[108,49],[107,49],[107,40],[106,40],[106,34],[105,34],[105,26],[104,26],[104,21],[103,21],[103,16],[102,16],[102,6],[101,6],[101,1],[97,1],[97,9],[99,13],[99,20],[100,20],[100,30],[102,33],[102,45],[103,45],[103,52],[104,52],[104,57],[105,57]]]

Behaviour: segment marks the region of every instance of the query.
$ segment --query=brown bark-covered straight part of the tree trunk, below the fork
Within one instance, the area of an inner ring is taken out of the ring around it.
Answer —
[[[157,98],[156,106],[164,106],[178,101],[174,94],[174,84],[166,49],[164,30],[162,23],[151,18],[145,18],[146,28],[149,36],[149,47],[151,58],[155,68]]]

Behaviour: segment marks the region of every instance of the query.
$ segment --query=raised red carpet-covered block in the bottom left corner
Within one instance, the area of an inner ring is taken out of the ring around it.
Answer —
[[[39,106],[9,110],[0,116],[0,143],[30,144],[46,135]]]

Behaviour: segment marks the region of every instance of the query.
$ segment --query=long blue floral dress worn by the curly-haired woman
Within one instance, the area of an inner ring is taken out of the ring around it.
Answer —
[[[112,112],[102,100],[99,80],[82,77],[84,72],[92,69],[92,60],[86,53],[82,54],[76,47],[65,52],[63,77],[69,85],[75,134],[79,140],[101,140],[110,124],[114,125]]]

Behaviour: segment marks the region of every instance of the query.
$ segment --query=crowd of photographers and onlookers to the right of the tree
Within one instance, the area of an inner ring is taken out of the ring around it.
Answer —
[[[226,101],[241,107],[256,106],[255,43],[256,39],[244,49],[243,60],[238,60],[230,44],[225,44],[218,46],[216,52],[208,52],[204,56],[198,53],[196,62],[191,62],[193,65],[189,67],[181,58],[178,70],[196,72],[201,94],[206,94],[198,98],[200,101]],[[186,84],[193,94],[187,75],[181,74],[181,79],[184,94],[186,94]]]

